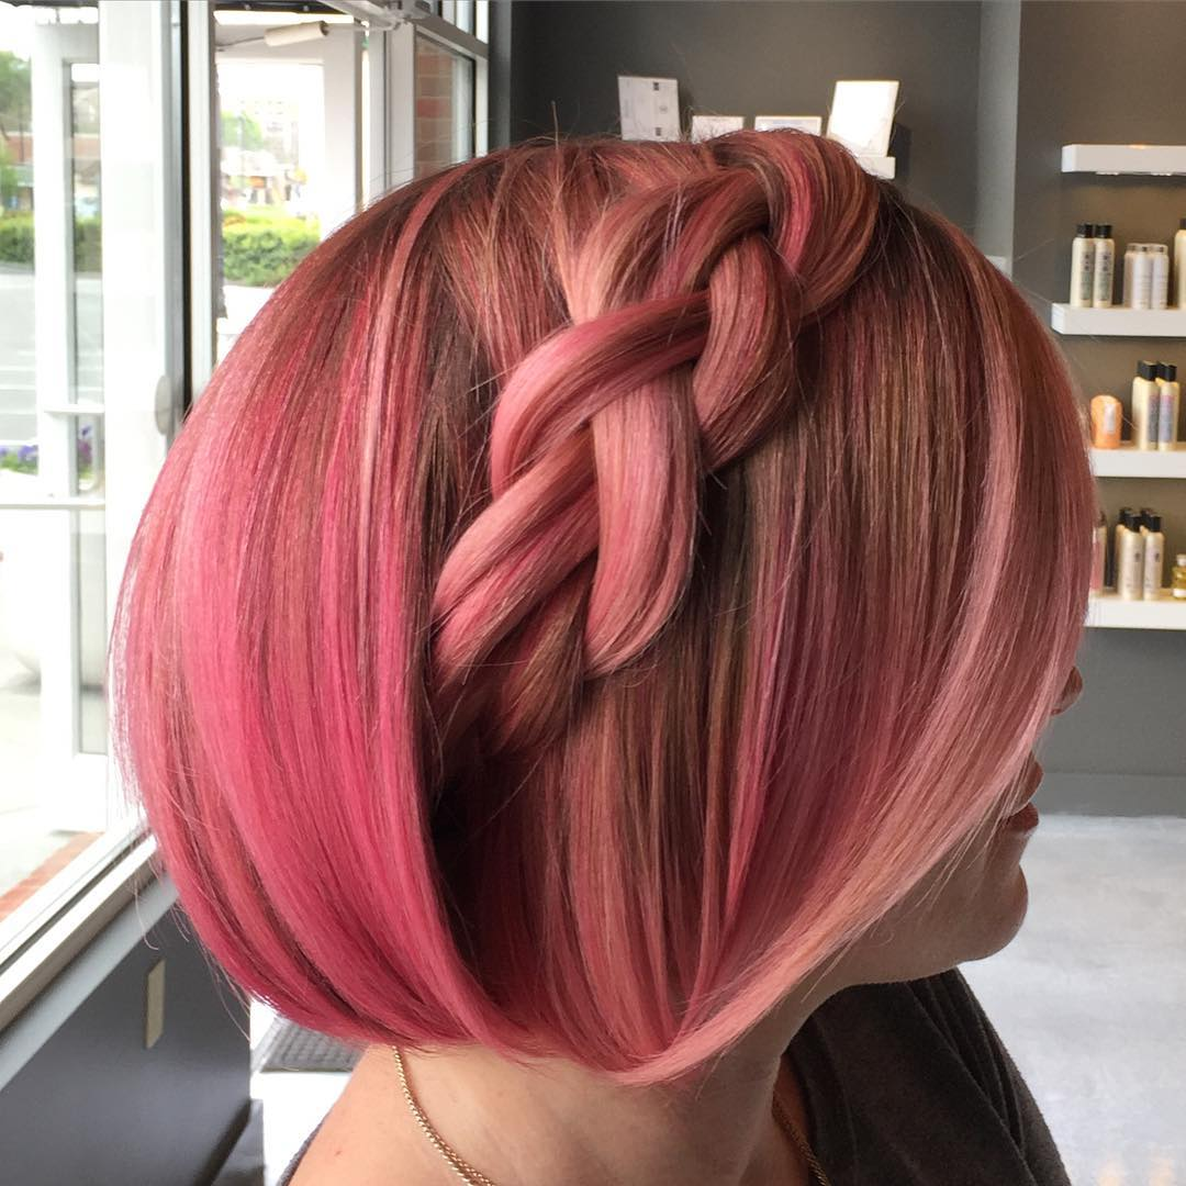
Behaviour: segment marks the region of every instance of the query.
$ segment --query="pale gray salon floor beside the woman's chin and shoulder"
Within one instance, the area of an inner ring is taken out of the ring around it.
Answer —
[[[965,977],[1075,1186],[1186,1186],[1186,820],[1047,815],[1022,867],[1025,926]],[[217,1186],[275,1186],[346,1079],[256,1073],[262,1177],[240,1150]]]

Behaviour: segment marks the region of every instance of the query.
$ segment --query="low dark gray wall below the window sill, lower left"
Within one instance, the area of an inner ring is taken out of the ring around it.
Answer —
[[[247,1010],[178,916],[145,936],[144,911],[129,905],[0,1035],[6,1186],[205,1186],[247,1122]],[[165,1025],[146,1050],[161,958]]]

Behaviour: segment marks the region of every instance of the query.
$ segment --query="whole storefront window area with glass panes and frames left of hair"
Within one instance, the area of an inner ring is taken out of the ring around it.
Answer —
[[[485,151],[487,5],[445,7],[0,0],[0,1025],[151,847],[107,643],[186,358],[197,398],[324,235]]]

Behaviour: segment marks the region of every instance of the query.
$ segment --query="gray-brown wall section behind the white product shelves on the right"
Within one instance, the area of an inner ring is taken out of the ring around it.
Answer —
[[[1153,55],[1150,57],[1150,55]],[[1186,55],[1186,6],[1104,0],[1021,6],[1016,113],[1014,270],[1018,286],[1048,320],[1065,301],[1077,222],[1110,222],[1120,253],[1129,241],[1169,242],[1186,216],[1173,178],[1060,172],[1064,144],[1181,144],[1186,71],[1150,62]],[[1162,76],[1163,75],[1163,76]],[[1116,281],[1117,299],[1120,276]],[[1180,339],[1077,338],[1059,343],[1084,400],[1111,391],[1126,406],[1139,358],[1186,369]],[[1102,502],[1114,522],[1124,504],[1163,512],[1167,550],[1186,551],[1186,483],[1107,479]],[[1080,810],[1186,814],[1186,632],[1088,631],[1078,707],[1051,729],[1044,765],[1053,801]]]

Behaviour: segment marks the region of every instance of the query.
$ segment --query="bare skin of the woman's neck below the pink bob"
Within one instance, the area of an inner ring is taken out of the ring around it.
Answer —
[[[785,1001],[690,1090],[621,1086],[569,1061],[524,1066],[477,1046],[404,1051],[403,1059],[441,1139],[498,1186],[806,1186],[806,1163],[772,1104],[777,1086],[806,1134],[802,1089],[783,1053],[827,995],[820,988],[811,1001]],[[389,1048],[368,1051],[326,1128],[339,1175],[347,1168],[340,1159],[353,1154],[368,1168],[351,1180],[457,1181],[408,1109]]]

